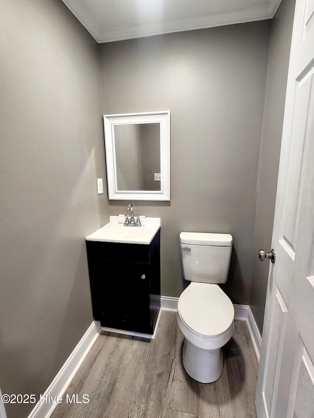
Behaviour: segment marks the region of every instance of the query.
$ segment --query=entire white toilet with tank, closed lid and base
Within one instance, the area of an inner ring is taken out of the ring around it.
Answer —
[[[221,375],[221,347],[234,332],[233,303],[217,284],[227,281],[232,241],[230,234],[180,234],[183,277],[191,282],[178,301],[177,320],[185,337],[183,366],[201,383]]]

